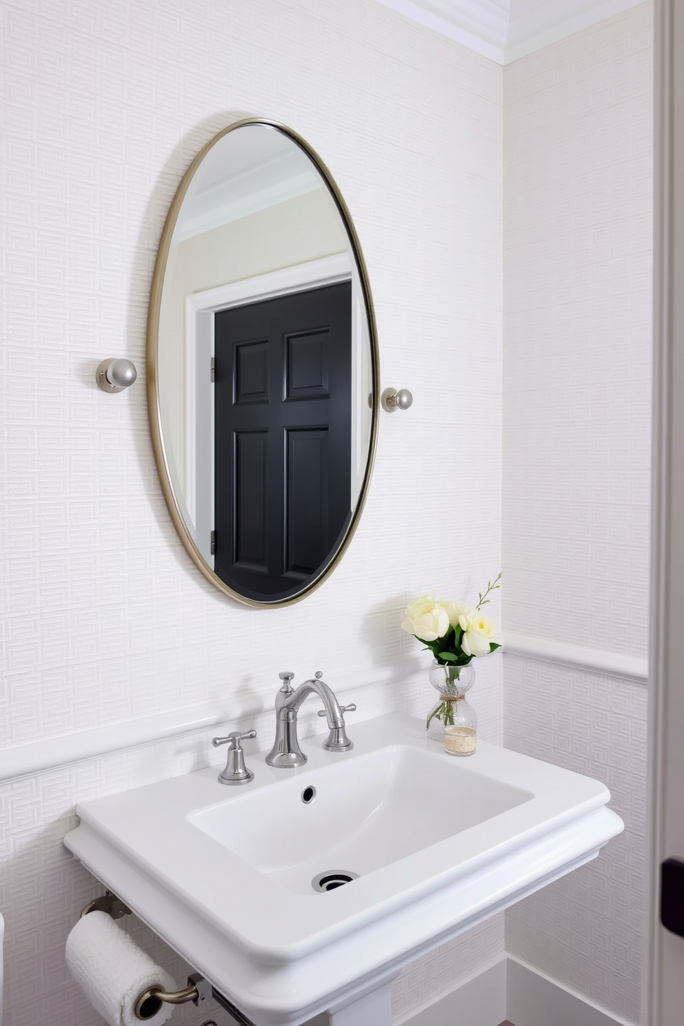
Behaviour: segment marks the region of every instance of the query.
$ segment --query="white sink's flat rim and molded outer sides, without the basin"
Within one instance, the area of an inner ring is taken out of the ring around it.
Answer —
[[[403,714],[357,724],[354,742],[339,755],[324,752],[320,737],[309,739],[309,762],[296,771],[251,756],[255,779],[245,788],[222,787],[210,768],[84,802],[81,825],[65,842],[217,989],[267,1024],[305,1021],[329,1007],[331,994],[396,970],[593,858],[623,828],[599,782],[482,742],[471,758],[454,758]],[[458,775],[473,773],[531,797],[322,895],[289,890],[197,826],[207,811],[230,812],[248,792],[320,787],[328,767],[344,764],[351,779],[368,755],[401,746],[453,771],[454,793],[445,801],[457,800]]]

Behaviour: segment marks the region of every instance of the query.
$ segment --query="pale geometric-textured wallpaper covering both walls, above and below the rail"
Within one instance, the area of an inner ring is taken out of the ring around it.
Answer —
[[[250,686],[275,692],[282,669],[320,667],[333,686],[379,669],[416,650],[399,629],[406,600],[477,593],[501,537],[509,630],[645,655],[649,4],[504,70],[373,0],[0,0],[0,15],[3,745],[230,707]],[[191,564],[145,403],[168,203],[200,146],[247,113],[299,131],[332,170],[369,268],[383,385],[414,395],[381,421],[339,567],[282,610],[238,606]],[[119,355],[138,380],[108,396],[94,368]],[[418,715],[429,692],[411,678],[384,702]],[[506,718],[511,747],[611,788],[626,833],[510,910],[507,932],[514,953],[633,1019],[644,699],[500,656],[473,699],[483,737],[500,742]],[[234,717],[227,728],[272,734],[267,710]],[[0,786],[6,1026],[95,1026],[64,962],[99,890],[62,844],[74,806],[206,764],[211,733]],[[127,929],[183,982],[172,952]],[[502,948],[498,916],[419,959],[395,984],[397,1017]]]

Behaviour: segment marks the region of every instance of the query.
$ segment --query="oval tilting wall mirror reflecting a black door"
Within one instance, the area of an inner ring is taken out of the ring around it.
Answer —
[[[230,125],[169,209],[148,399],[164,495],[216,587],[283,605],[340,558],[368,488],[378,357],[345,201],[289,128]]]

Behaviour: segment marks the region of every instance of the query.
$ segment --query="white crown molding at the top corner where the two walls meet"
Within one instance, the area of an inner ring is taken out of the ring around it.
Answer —
[[[498,64],[555,43],[642,0],[378,0]]]

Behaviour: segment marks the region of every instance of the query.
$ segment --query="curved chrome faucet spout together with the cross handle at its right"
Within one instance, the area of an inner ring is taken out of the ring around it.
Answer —
[[[324,715],[328,721],[330,734],[323,742],[323,748],[328,752],[349,752],[354,746],[347,737],[345,716],[347,711],[353,711],[356,706],[340,708],[334,693],[324,680],[319,670],[312,680],[305,680],[296,688],[292,687],[293,673],[281,673],[282,687],[276,695],[276,740],[266,757],[270,766],[301,766],[307,756],[299,748],[296,733],[296,718],[304,700],[312,692],[321,699]]]

